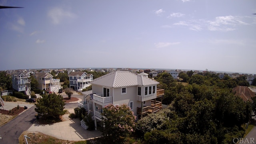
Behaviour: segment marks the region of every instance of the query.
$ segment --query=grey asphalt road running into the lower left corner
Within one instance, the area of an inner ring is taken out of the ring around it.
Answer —
[[[0,144],[18,144],[19,136],[25,130],[28,130],[36,120],[35,111],[36,106],[29,108],[16,118],[8,122],[7,124],[0,127]]]

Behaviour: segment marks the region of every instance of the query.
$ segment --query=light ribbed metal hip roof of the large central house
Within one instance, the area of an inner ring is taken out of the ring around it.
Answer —
[[[94,79],[94,85],[101,85],[105,87],[127,87],[134,85],[156,85],[159,84],[153,79],[142,75],[136,75],[130,71],[114,71]]]

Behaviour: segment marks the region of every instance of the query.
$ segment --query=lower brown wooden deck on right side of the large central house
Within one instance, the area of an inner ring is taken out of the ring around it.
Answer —
[[[147,107],[137,107],[137,114],[150,114],[158,112],[158,110],[162,109],[162,103],[160,101],[151,101],[151,106]]]

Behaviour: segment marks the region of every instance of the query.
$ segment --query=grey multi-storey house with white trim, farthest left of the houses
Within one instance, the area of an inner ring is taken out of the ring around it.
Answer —
[[[30,96],[30,73],[14,73],[12,75],[12,88]]]

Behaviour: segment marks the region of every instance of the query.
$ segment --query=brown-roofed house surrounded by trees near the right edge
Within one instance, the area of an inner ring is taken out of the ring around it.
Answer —
[[[235,93],[236,96],[239,96],[243,99],[244,102],[252,101],[252,97],[255,97],[255,93],[252,92],[248,87],[246,86],[236,86],[232,89],[233,93]]]

